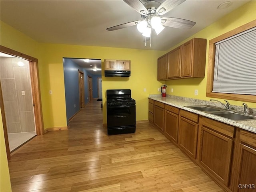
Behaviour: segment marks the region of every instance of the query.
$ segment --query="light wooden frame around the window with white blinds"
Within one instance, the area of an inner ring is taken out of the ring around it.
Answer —
[[[206,84],[206,97],[230,99],[237,101],[256,102],[256,95],[245,95],[245,94],[231,94],[231,93],[214,93],[213,80],[214,80],[214,61],[215,61],[215,43],[238,33],[244,32],[250,28],[256,27],[256,20],[244,24],[234,30],[226,32],[209,41],[209,53],[208,53],[208,73],[207,73],[207,84]]]

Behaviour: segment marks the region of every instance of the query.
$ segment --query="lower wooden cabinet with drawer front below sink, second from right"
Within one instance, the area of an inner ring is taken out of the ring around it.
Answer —
[[[230,186],[234,126],[200,117],[198,162],[213,178]]]

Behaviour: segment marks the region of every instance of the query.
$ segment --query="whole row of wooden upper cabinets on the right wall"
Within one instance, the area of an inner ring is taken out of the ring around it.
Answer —
[[[193,38],[158,58],[157,79],[204,77],[205,60],[206,39]]]

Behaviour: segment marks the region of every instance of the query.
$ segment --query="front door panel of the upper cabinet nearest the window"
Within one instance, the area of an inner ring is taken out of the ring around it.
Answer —
[[[193,40],[182,45],[182,77],[192,76]]]

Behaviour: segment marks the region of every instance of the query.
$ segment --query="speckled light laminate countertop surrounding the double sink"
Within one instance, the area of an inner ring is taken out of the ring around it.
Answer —
[[[234,120],[229,120],[220,116],[212,115],[210,113],[184,107],[184,106],[191,106],[191,105],[206,105],[206,104],[212,105],[212,106],[218,106],[218,103],[216,104],[216,102],[208,102],[204,100],[196,100],[196,99],[184,98],[184,97],[178,97],[178,96],[161,97],[158,95],[150,95],[148,98],[256,133],[256,120],[234,121]]]

